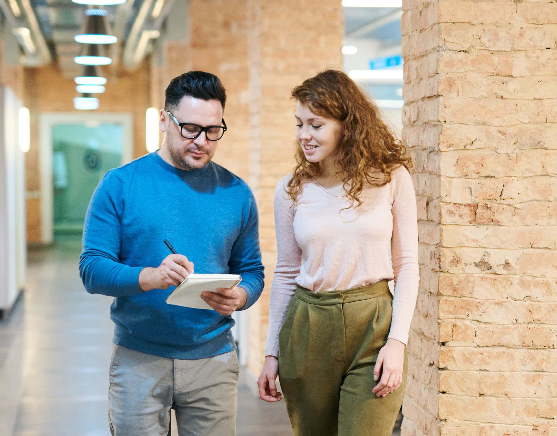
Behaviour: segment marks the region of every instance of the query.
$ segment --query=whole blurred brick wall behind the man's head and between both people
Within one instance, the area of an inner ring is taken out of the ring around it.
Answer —
[[[250,308],[250,368],[258,373],[276,262],[273,194],[294,165],[290,91],[325,67],[341,67],[342,8],[336,0],[319,8],[292,1],[191,0],[188,8],[183,40],[163,45],[159,83],[163,91],[173,77],[203,70],[219,76],[227,89],[229,130],[214,160],[244,178],[257,198],[266,275],[263,296]]]

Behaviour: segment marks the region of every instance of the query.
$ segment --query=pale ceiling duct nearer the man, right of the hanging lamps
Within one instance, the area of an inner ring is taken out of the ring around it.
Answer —
[[[134,70],[145,57],[149,42],[160,36],[164,22],[174,0],[144,0],[139,8],[122,53],[122,63]]]

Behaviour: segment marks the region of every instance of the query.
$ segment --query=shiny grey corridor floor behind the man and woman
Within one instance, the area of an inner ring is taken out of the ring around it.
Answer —
[[[110,435],[111,298],[84,290],[80,249],[68,239],[29,252],[25,294],[0,321],[1,436]],[[237,434],[292,435],[284,401],[265,403],[253,386],[242,368]]]

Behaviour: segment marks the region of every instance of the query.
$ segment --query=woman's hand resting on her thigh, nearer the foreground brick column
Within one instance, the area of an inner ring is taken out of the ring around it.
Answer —
[[[372,391],[377,396],[387,396],[387,394],[397,390],[402,383],[404,346],[403,342],[389,338],[387,344],[379,350],[377,362],[373,369],[373,379],[378,380],[379,375],[381,375],[381,380]]]

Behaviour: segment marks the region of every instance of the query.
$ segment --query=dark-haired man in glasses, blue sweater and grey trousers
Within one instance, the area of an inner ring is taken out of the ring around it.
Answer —
[[[236,432],[238,360],[231,314],[263,289],[250,188],[211,161],[226,131],[218,77],[190,71],[167,87],[162,147],[106,173],[85,218],[80,275],[114,298],[109,423],[115,436]],[[179,254],[168,254],[168,239]],[[188,274],[242,276],[204,293],[214,310],[169,305]]]

